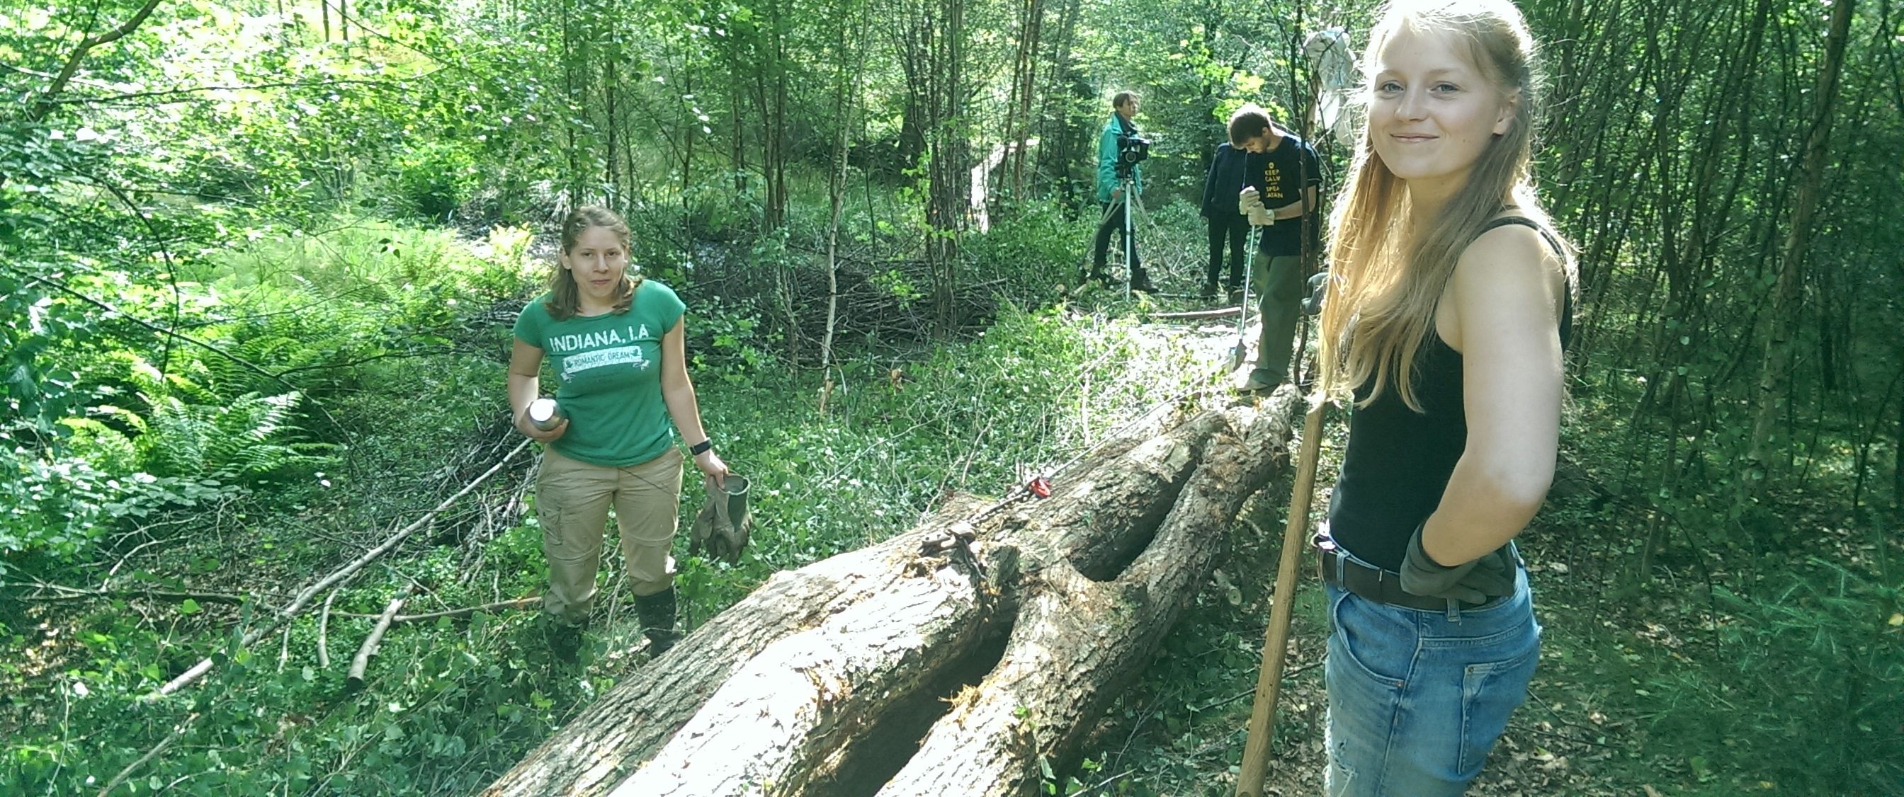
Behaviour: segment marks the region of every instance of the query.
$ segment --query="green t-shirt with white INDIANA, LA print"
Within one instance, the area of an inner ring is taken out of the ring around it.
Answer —
[[[541,348],[556,369],[556,401],[569,430],[554,443],[562,457],[625,468],[674,445],[668,407],[661,399],[661,337],[682,320],[687,304],[668,285],[642,280],[628,312],[548,318],[535,297],[516,316],[516,339]]]

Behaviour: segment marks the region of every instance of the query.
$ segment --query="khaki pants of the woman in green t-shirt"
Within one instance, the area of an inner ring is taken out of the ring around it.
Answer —
[[[682,453],[668,449],[642,464],[604,468],[543,451],[535,479],[535,517],[543,525],[548,557],[548,592],[543,611],[565,622],[583,622],[602,569],[602,535],[607,508],[615,506],[621,554],[628,586],[653,595],[674,584],[674,529],[682,506]]]

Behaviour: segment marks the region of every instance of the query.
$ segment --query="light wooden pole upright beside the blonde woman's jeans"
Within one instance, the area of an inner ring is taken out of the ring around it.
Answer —
[[[1289,611],[1297,597],[1297,565],[1308,548],[1308,504],[1316,491],[1316,453],[1321,447],[1321,413],[1327,401],[1316,401],[1302,420],[1302,447],[1297,449],[1297,485],[1289,496],[1289,523],[1283,523],[1283,559],[1276,567],[1276,597],[1270,603],[1270,630],[1262,639],[1262,670],[1257,673],[1257,702],[1249,711],[1249,740],[1243,742],[1243,767],[1236,776],[1236,797],[1262,797],[1262,780],[1270,774],[1270,742],[1276,736],[1276,692],[1283,685],[1283,658],[1289,654]]]

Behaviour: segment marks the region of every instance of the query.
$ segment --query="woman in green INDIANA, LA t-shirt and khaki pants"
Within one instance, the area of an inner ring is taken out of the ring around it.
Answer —
[[[727,466],[701,428],[687,379],[685,304],[666,285],[628,274],[628,224],[613,211],[579,207],[562,223],[562,251],[548,293],[516,318],[508,358],[508,405],[516,430],[546,443],[535,481],[535,515],[548,557],[543,611],[556,622],[552,647],[573,658],[596,593],[607,510],[615,506],[636,612],[653,654],[674,630],[674,529],[682,500],[682,439],[716,485]],[[541,396],[543,358],[556,371],[564,418],[529,422]]]

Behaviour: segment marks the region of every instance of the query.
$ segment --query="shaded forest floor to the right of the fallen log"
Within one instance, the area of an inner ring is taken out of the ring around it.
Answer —
[[[1219,576],[1047,793],[1234,793],[1287,491],[1245,508]],[[1632,588],[1618,533],[1632,527],[1616,506],[1556,496],[1523,535],[1542,658],[1472,793],[1904,793],[1904,614],[1870,535],[1820,529],[1813,544],[1832,557],[1767,559],[1750,576],[1679,552]],[[1896,561],[1904,546],[1885,544]],[[1329,624],[1308,559],[1299,578],[1268,786],[1318,793]]]

